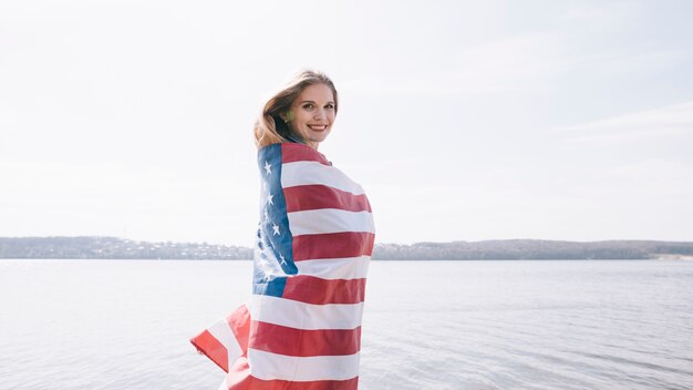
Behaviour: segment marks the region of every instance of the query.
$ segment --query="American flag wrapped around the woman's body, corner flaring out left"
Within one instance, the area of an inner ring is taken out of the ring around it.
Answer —
[[[266,146],[258,165],[252,301],[190,341],[227,371],[221,389],[356,389],[369,201],[303,144]]]

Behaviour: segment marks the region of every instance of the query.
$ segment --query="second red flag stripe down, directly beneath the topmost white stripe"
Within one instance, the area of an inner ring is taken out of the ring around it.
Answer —
[[[324,185],[299,185],[283,188],[287,213],[308,209],[339,208],[348,212],[371,212],[364,194],[352,193]]]

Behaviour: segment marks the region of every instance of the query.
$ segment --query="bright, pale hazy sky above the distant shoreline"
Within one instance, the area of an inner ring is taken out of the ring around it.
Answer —
[[[0,236],[251,246],[302,69],[376,243],[693,240],[693,2],[0,0]]]

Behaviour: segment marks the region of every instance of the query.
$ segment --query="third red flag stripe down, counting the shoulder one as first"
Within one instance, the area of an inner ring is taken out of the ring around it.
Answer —
[[[293,260],[359,257],[373,254],[375,235],[368,232],[311,234],[293,237]]]

